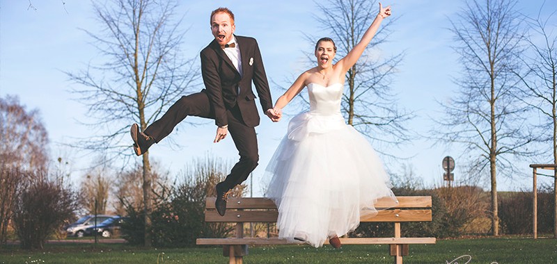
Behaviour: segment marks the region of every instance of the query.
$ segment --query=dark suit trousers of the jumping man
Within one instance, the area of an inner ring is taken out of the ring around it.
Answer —
[[[228,132],[240,154],[240,160],[234,165],[224,183],[228,188],[244,182],[249,174],[257,167],[259,161],[256,129],[246,126],[242,120],[240,108],[234,106],[226,110],[228,117]],[[164,115],[150,124],[143,133],[150,135],[159,142],[169,135],[174,127],[188,115],[214,119],[214,109],[205,92],[196,92],[181,97]]]

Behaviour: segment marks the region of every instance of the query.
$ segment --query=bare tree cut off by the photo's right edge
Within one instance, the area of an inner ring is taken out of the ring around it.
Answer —
[[[521,93],[528,106],[538,110],[541,120],[538,126],[540,141],[545,143],[542,153],[551,153],[551,163],[557,164],[557,34],[548,23],[553,14],[542,19],[542,8],[535,19],[528,19],[531,35],[527,39],[531,56],[524,56],[526,74],[517,76],[526,86]],[[551,145],[547,144],[551,142]],[[549,157],[547,157],[549,158]],[[557,170],[554,171],[554,195],[557,201]],[[557,203],[555,204],[554,236],[557,238]]]

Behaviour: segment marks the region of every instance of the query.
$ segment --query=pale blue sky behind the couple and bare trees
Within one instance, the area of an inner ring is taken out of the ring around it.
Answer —
[[[313,1],[180,1],[178,14],[185,14],[182,27],[189,28],[182,50],[188,58],[197,56],[211,40],[208,24],[210,11],[219,6],[233,10],[236,16],[237,35],[256,38],[262,51],[269,81],[288,87],[285,79],[297,76],[302,68],[304,52],[313,48],[302,32],[320,35],[313,15],[317,10]],[[38,108],[52,141],[50,146],[53,159],[67,157],[76,170],[72,174],[75,183],[81,180],[79,169],[86,167],[91,156],[80,156],[76,151],[61,147],[59,143],[72,142],[72,138],[87,135],[88,129],[79,124],[90,121],[86,109],[68,92],[76,86],[68,81],[63,71],[84,69],[97,56],[91,46],[91,38],[79,28],[95,32],[97,25],[89,1],[77,0],[31,0],[0,1],[0,96],[15,94],[27,108]],[[519,9],[527,15],[536,15],[543,1],[519,1]],[[425,134],[433,125],[430,118],[441,117],[441,108],[436,103],[446,101],[457,92],[451,81],[459,74],[457,56],[451,49],[453,36],[448,31],[448,18],[462,8],[462,1],[405,0],[384,2],[391,5],[392,17],[398,21],[391,26],[393,31],[389,42],[380,47],[382,56],[406,52],[406,57],[398,68],[392,88],[398,94],[400,106],[415,111],[417,117],[409,124],[409,129]],[[548,1],[542,14],[557,10],[556,1]],[[553,26],[557,30],[556,17]],[[275,100],[281,95],[272,85]],[[285,109],[288,113],[288,107]],[[294,114],[293,109],[290,114]],[[272,156],[276,145],[283,137],[288,119],[274,124],[266,117],[258,126],[260,141],[260,165],[253,172],[254,194],[262,187],[261,174]],[[204,122],[191,118],[191,122]],[[130,124],[132,119],[130,118]],[[228,138],[213,144],[215,127],[213,122],[196,127],[181,124],[180,133],[172,136],[178,147],[168,141],[152,147],[151,157],[172,172],[182,170],[195,158],[219,156],[237,159],[237,151]],[[455,158],[455,178],[459,176],[459,149],[431,147],[431,142],[416,140],[413,144],[394,149],[392,154],[413,156],[400,163],[411,164],[416,176],[426,185],[441,184],[444,156]],[[131,151],[131,149],[130,149]],[[137,159],[139,161],[139,158]],[[542,160],[538,163],[546,163]],[[400,171],[398,162],[390,161],[389,170]],[[531,188],[531,169],[524,163],[524,176],[515,180],[500,177],[499,190]],[[549,179],[542,179],[549,183]]]

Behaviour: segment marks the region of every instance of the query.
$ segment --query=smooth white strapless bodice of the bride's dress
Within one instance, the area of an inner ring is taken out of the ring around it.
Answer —
[[[308,84],[310,112],[321,115],[340,113],[340,100],[343,97],[343,85],[333,83],[329,86],[317,83]]]

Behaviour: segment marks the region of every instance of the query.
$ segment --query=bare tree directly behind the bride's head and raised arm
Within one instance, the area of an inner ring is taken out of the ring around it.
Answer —
[[[377,16],[379,6],[377,1],[367,0],[329,0],[315,4],[320,12],[320,15],[315,15],[315,20],[326,35],[306,35],[306,40],[315,44],[317,39],[329,36],[338,46],[336,58],[343,58],[358,44]],[[411,139],[411,133],[405,124],[414,117],[413,113],[397,107],[396,96],[390,88],[396,67],[404,58],[404,53],[381,58],[377,49],[386,42],[389,25],[394,21],[395,19],[389,19],[389,22],[379,28],[361,58],[348,70],[345,81],[347,92],[343,95],[341,105],[348,124],[370,140],[390,147]],[[307,53],[307,63],[315,65],[313,52]],[[300,94],[298,98],[307,105],[309,103],[304,96]]]

